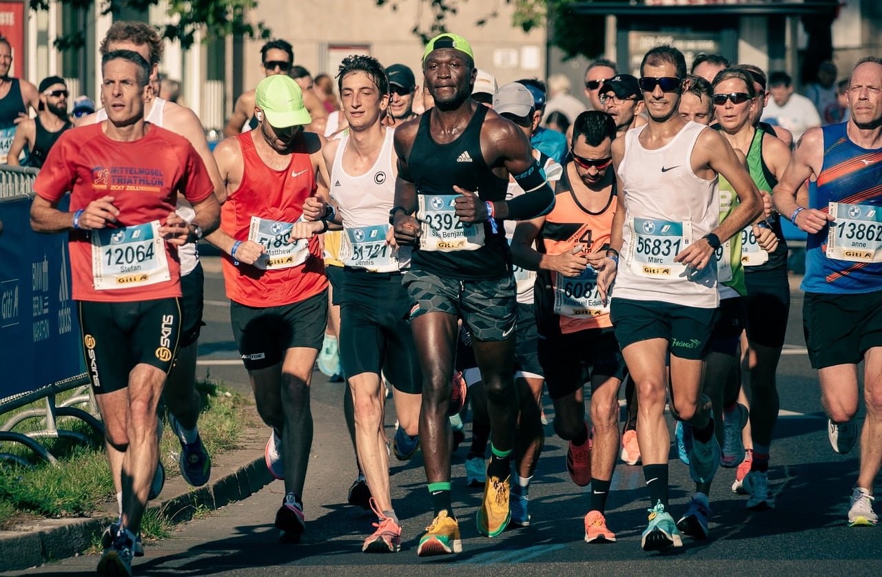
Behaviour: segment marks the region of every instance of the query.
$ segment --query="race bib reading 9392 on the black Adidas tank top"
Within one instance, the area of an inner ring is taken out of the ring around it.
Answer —
[[[483,223],[464,223],[456,216],[454,202],[459,196],[419,195],[420,250],[477,250],[484,245]]]

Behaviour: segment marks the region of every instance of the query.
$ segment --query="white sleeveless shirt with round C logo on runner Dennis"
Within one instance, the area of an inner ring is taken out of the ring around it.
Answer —
[[[341,133],[340,144],[331,167],[331,198],[337,203],[343,235],[349,230],[364,227],[389,227],[389,211],[395,197],[395,173],[392,166],[395,157],[392,140],[395,129],[385,129],[383,148],[374,166],[360,176],[351,176],[343,168],[343,153],[349,143],[349,130]],[[384,235],[385,238],[385,235]],[[410,266],[410,247],[400,247],[399,268]]]

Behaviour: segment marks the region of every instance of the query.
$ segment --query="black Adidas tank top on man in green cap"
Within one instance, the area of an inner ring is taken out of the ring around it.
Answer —
[[[463,133],[449,144],[432,139],[431,111],[422,115],[407,159],[417,195],[456,194],[456,185],[477,193],[483,201],[505,200],[508,181],[493,174],[481,151],[481,127],[487,110],[479,105]],[[411,267],[457,280],[493,280],[511,275],[512,253],[505,240],[505,226],[497,223],[496,234],[489,222],[483,226],[483,247],[453,252],[415,249]]]

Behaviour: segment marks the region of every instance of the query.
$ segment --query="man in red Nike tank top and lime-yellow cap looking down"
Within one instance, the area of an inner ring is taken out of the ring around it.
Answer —
[[[317,194],[317,174],[326,191],[325,139],[303,132],[310,114],[288,76],[261,81],[254,116],[257,129],[214,150],[228,196],[221,228],[206,238],[226,253],[233,334],[258,412],[273,427],[266,466],[286,492],[275,525],[281,538],[299,542],[312,446],[310,380],[327,320],[325,263],[314,236],[327,225],[305,222],[303,201]]]

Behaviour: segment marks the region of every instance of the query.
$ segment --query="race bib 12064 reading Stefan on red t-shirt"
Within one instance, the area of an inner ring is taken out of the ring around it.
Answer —
[[[160,221],[92,231],[92,279],[95,290],[162,283],[168,272]]]

